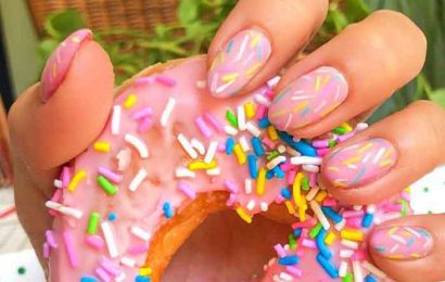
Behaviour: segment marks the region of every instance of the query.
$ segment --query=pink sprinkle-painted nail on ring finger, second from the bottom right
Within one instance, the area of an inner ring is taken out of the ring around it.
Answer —
[[[334,187],[359,187],[387,174],[396,159],[397,152],[390,141],[373,138],[330,153],[322,174]]]

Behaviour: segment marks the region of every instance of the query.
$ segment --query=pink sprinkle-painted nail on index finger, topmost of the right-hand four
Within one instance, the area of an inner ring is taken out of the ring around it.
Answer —
[[[271,53],[270,41],[258,29],[238,33],[219,50],[208,69],[214,97],[237,94],[262,69]]]

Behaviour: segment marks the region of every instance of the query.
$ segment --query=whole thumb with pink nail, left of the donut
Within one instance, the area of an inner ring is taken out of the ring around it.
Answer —
[[[31,168],[62,165],[101,132],[113,102],[113,67],[88,29],[71,35],[47,62],[42,80],[9,114],[14,154]]]

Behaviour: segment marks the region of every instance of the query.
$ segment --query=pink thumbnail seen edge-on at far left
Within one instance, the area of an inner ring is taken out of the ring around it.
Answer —
[[[80,44],[92,39],[89,29],[79,29],[68,36],[51,54],[41,75],[41,98],[48,102],[65,79]]]

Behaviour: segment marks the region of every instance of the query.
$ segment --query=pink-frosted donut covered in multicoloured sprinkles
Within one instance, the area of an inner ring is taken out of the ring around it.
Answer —
[[[289,242],[270,246],[277,256],[257,281],[386,279],[368,257],[366,236],[410,213],[409,189],[349,206],[318,181],[323,157],[366,124],[293,138],[268,119],[279,76],[246,95],[217,99],[206,69],[205,55],[175,60],[115,90],[103,131],[62,167],[46,203],[49,280],[161,281],[182,243],[226,209],[246,223],[262,215],[289,225]]]

